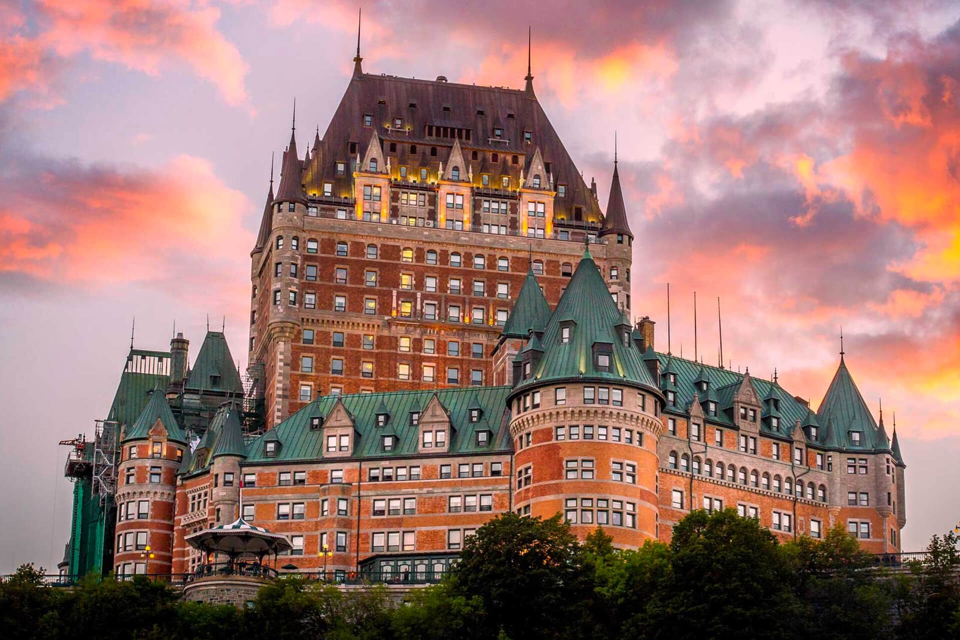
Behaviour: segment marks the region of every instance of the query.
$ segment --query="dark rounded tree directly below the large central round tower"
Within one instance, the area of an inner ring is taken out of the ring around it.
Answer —
[[[560,514],[543,520],[504,513],[470,536],[450,576],[450,593],[479,598],[482,637],[566,634],[582,587],[580,545]]]

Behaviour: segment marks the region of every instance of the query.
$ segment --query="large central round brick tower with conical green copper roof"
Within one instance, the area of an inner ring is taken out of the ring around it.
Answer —
[[[657,537],[662,397],[587,252],[542,331],[514,360],[514,507],[563,513],[617,547]]]

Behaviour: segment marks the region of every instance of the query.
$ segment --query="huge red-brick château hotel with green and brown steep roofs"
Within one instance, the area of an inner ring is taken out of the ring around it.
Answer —
[[[218,331],[192,364],[181,335],[131,348],[71,441],[69,573],[189,574],[187,537],[238,519],[287,537],[289,571],[445,572],[507,511],[619,548],[732,508],[783,540],[839,525],[900,550],[896,428],[842,350],[816,411],[776,376],[664,350],[631,299],[644,243],[616,162],[604,208],[529,69],[508,89],[361,62],[271,177],[246,371]]]

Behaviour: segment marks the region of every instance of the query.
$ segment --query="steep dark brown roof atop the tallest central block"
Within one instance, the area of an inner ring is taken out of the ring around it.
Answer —
[[[372,116],[372,127],[364,126],[364,115]],[[390,127],[395,118],[403,122],[403,130]],[[449,156],[456,138],[440,134],[427,136],[427,127],[452,127],[468,130],[469,139],[460,138],[466,161],[477,152],[486,161],[490,157],[493,182],[499,175],[509,176],[516,184],[520,171],[529,165],[533,145],[523,141],[523,132],[532,133],[534,145],[540,148],[555,184],[565,184],[564,196],[554,199],[554,216],[558,221],[573,220],[573,207],[583,207],[583,220],[600,223],[599,205],[587,196],[589,189],[564,144],[551,125],[533,92],[495,86],[416,80],[357,71],[350,78],[340,104],[324,131],[320,144],[320,163],[314,163],[303,176],[307,193],[323,193],[324,182],[332,182],[334,193],[352,193],[352,166],[356,154],[350,154],[350,143],[361,152],[375,130],[384,142],[396,142],[392,164],[410,169],[419,175],[420,168],[431,175],[439,163],[449,166]],[[493,128],[501,129],[500,137]],[[416,147],[416,151],[412,149]],[[437,154],[424,154],[435,147]],[[496,162],[492,154],[498,154]],[[518,156],[516,164],[512,156]],[[348,162],[348,171],[336,173],[336,162]],[[468,166],[461,166],[461,177]],[[542,176],[545,184],[546,174]]]

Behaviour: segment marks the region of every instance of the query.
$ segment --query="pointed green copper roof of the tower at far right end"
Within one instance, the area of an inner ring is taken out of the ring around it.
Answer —
[[[890,450],[886,435],[877,427],[842,355],[817,415],[821,423],[828,423],[836,446],[854,451]],[[860,433],[859,444],[853,443],[852,432]]]

